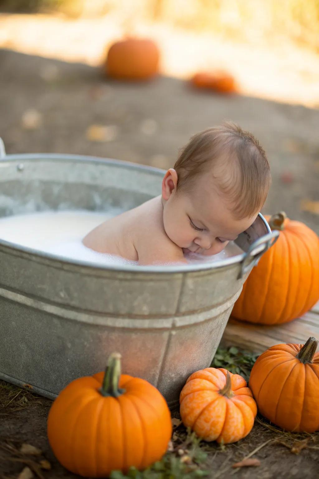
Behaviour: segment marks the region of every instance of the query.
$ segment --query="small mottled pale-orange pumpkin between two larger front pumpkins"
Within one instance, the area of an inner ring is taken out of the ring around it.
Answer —
[[[205,441],[229,444],[250,433],[257,406],[239,374],[208,367],[193,373],[180,393],[183,424]]]

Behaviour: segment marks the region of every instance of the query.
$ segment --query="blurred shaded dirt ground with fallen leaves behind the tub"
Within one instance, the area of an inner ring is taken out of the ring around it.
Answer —
[[[285,210],[319,232],[319,110],[195,91],[185,81],[106,80],[98,68],[0,50],[0,137],[7,153],[59,152],[174,165],[189,137],[230,119],[271,163],[263,212]]]

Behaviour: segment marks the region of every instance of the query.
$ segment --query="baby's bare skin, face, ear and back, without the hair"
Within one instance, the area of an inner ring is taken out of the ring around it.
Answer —
[[[200,175],[190,191],[177,193],[177,173],[170,169],[162,195],[108,219],[83,239],[92,250],[121,256],[140,265],[187,263],[192,251],[214,255],[249,228],[252,217],[235,219],[231,204],[208,175]]]

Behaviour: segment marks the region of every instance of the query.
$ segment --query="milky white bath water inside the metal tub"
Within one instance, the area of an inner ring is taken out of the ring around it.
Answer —
[[[108,213],[49,211],[4,217],[0,218],[0,239],[66,259],[104,265],[137,264],[137,262],[119,256],[98,253],[82,244],[82,238],[91,229],[119,213],[120,211],[115,209]],[[238,254],[242,254],[242,249],[231,241],[225,250],[214,256],[201,256],[193,253],[187,257],[187,261],[189,263],[207,263]]]

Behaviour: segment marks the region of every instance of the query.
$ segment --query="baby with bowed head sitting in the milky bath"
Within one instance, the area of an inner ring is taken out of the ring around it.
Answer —
[[[270,182],[258,141],[224,123],[190,139],[166,171],[161,195],[108,219],[83,243],[141,265],[187,263],[189,252],[213,255],[252,225]]]

